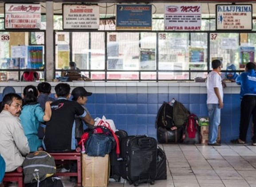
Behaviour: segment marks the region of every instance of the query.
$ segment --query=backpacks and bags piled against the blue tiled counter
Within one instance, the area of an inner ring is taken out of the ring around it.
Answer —
[[[156,118],[157,138],[160,144],[200,144],[198,117],[174,98],[163,102]]]

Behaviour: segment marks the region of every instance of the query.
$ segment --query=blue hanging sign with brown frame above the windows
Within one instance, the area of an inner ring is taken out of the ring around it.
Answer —
[[[118,4],[116,30],[152,30],[152,5]]]

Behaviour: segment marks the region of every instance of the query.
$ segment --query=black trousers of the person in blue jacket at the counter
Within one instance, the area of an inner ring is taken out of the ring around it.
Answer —
[[[239,138],[246,141],[247,130],[250,124],[250,119],[254,125],[252,141],[256,142],[256,96],[244,95],[241,101],[240,110],[240,125],[239,125]]]

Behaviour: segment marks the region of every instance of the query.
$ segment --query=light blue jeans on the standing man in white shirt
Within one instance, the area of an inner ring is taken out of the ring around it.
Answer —
[[[219,108],[219,104],[207,104],[208,115],[209,115],[209,135],[208,135],[208,143],[214,144],[216,143],[218,136],[218,127],[221,122],[221,109]]]

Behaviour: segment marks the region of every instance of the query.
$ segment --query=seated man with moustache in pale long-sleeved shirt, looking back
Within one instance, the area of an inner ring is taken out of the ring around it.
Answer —
[[[4,108],[0,113],[0,154],[6,163],[5,171],[8,172],[21,166],[24,156],[30,150],[19,119],[22,98],[18,94],[7,94],[2,105]]]

